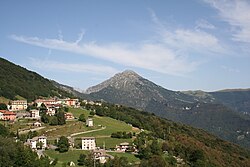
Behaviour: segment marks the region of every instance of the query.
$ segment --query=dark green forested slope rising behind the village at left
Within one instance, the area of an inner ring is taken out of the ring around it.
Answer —
[[[39,96],[72,97],[56,87],[50,80],[0,58],[0,97],[16,99],[21,96],[28,101]]]

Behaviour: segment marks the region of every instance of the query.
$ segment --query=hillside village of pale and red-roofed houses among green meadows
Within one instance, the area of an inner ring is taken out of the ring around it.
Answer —
[[[94,159],[100,163],[105,163],[108,159],[113,159],[114,152],[125,153],[129,151],[136,154],[137,150],[132,144],[132,139],[112,139],[110,135],[111,132],[116,133],[119,129],[121,131],[125,129],[125,131],[133,131],[134,134],[140,132],[140,130],[124,122],[110,121],[110,118],[108,121],[105,120],[105,123],[99,124],[102,123],[104,119],[93,116],[93,111],[91,113],[89,110],[86,110],[86,106],[88,108],[89,106],[101,105],[101,102],[87,100],[80,102],[79,99],[59,99],[56,97],[36,99],[31,103],[27,103],[27,100],[13,100],[7,105],[8,110],[0,110],[0,120],[9,124],[8,126],[13,129],[19,125],[15,129],[18,135],[32,134],[32,132],[34,132],[36,135],[31,135],[31,138],[27,138],[24,141],[24,145],[37,152],[39,157],[44,156],[49,150],[57,149],[57,145],[54,141],[58,142],[60,135],[67,137],[71,151],[88,151],[93,155]],[[43,114],[52,117],[55,116],[59,110],[65,108],[67,110],[67,112],[64,112],[65,125],[49,126],[42,121]],[[79,121],[81,115],[86,116],[84,122]],[[25,124],[23,122],[27,123]],[[112,123],[116,125],[109,127],[109,124]],[[21,125],[24,125],[24,127],[20,128]],[[79,127],[79,129],[77,127]],[[125,129],[122,127],[125,127]],[[105,133],[105,131],[108,133]],[[57,132],[59,135],[56,135]],[[105,135],[100,135],[101,132]],[[95,136],[99,136],[99,138],[97,139]],[[110,141],[112,141],[111,145]],[[105,143],[107,143],[106,146]],[[111,154],[108,152],[111,152]],[[75,163],[72,161],[70,165],[75,166]]]

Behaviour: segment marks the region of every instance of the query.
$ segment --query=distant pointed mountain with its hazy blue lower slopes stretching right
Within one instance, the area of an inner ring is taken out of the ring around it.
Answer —
[[[227,106],[225,100],[221,102],[223,98],[218,93],[167,90],[129,70],[86,92],[93,100],[146,110],[250,148],[250,120]]]

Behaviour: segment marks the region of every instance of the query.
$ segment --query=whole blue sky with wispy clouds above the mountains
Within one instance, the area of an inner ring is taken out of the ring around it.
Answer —
[[[172,90],[250,87],[250,1],[0,1],[0,57],[86,89],[131,69]]]

